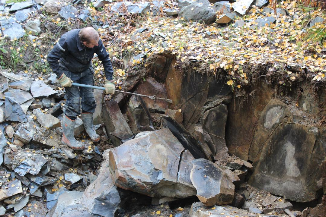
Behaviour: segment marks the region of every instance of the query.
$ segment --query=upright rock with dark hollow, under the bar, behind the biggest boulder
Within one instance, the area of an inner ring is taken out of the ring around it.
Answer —
[[[141,97],[133,95],[127,107],[128,124],[131,131],[137,134],[142,131],[154,130],[152,117]]]

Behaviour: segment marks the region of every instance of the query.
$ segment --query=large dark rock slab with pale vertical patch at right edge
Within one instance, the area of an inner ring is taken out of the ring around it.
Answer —
[[[321,132],[294,123],[278,126],[262,147],[250,184],[298,202],[315,200],[326,156]]]

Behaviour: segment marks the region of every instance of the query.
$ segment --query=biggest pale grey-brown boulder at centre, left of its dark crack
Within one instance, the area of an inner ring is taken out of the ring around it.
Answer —
[[[143,133],[109,151],[115,184],[152,197],[193,196],[191,183],[185,185],[177,180],[180,155],[184,150],[167,128]]]

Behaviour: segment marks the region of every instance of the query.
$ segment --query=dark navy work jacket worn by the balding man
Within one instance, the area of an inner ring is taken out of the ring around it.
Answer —
[[[98,46],[85,47],[78,36],[80,30],[74,29],[63,34],[50,51],[48,62],[52,71],[57,75],[57,78],[62,75],[60,66],[64,66],[74,73],[82,72],[92,66],[91,61],[94,53],[96,53],[104,66],[106,79],[112,80],[113,68],[102,40],[98,41]]]

